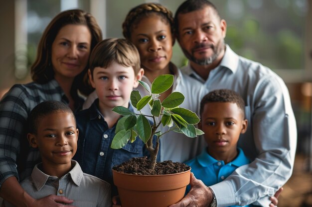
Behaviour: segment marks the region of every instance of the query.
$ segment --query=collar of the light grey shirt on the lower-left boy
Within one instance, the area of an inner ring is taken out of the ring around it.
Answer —
[[[82,177],[83,177],[83,172],[82,172],[81,167],[79,166],[78,162],[76,162],[75,160],[72,160],[71,164],[72,164],[73,168],[68,173],[66,173],[63,177],[61,177],[60,179],[65,178],[68,175],[70,175],[68,177],[70,177],[72,179],[72,181],[77,186],[79,186],[81,183]],[[37,191],[40,191],[43,188],[43,186],[45,185],[45,183],[47,182],[49,177],[55,177],[55,176],[50,176],[50,175],[43,173],[39,169],[39,166],[41,166],[41,165],[42,165],[42,163],[36,164],[32,170],[32,173],[31,173],[31,178],[32,178],[33,184],[34,184],[35,188],[37,189]]]

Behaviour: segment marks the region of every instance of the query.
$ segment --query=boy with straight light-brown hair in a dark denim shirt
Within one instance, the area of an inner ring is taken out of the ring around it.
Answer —
[[[121,118],[112,110],[124,106],[133,111],[130,95],[139,85],[144,70],[137,48],[128,40],[118,38],[98,43],[91,53],[89,67],[89,80],[99,98],[88,109],[76,114],[79,138],[73,159],[78,161],[83,172],[110,183],[114,196],[117,188],[112,167],[146,153],[144,142],[139,138],[121,149],[111,148],[116,123]]]

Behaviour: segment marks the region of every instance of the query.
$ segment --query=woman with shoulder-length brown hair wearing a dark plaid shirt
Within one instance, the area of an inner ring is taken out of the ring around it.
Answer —
[[[29,112],[39,103],[56,100],[73,111],[80,110],[90,86],[83,80],[89,56],[102,40],[95,18],[80,9],[59,13],[48,24],[40,39],[37,57],[31,67],[33,82],[16,84],[0,101],[0,196],[17,207],[62,206],[72,203],[50,195],[31,198],[18,183],[31,174],[39,151],[26,140]],[[79,91],[79,92],[78,92]]]

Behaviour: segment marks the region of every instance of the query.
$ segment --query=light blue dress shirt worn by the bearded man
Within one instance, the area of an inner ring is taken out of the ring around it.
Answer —
[[[209,91],[236,91],[246,104],[248,129],[238,146],[253,161],[210,186],[218,207],[250,203],[268,207],[270,196],[290,178],[296,153],[296,120],[284,81],[271,69],[238,56],[228,45],[220,65],[210,71],[207,80],[190,65],[182,70]]]

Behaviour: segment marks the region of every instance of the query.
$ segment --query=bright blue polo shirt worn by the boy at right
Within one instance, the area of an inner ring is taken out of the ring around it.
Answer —
[[[241,148],[238,147],[237,151],[237,157],[227,164],[224,164],[223,160],[219,161],[210,156],[207,150],[203,150],[200,155],[185,162],[185,164],[191,167],[191,172],[194,173],[197,179],[201,180],[206,186],[211,186],[223,181],[238,167],[250,163],[250,160],[246,157]],[[189,192],[189,190],[190,185],[186,187],[186,193]]]

